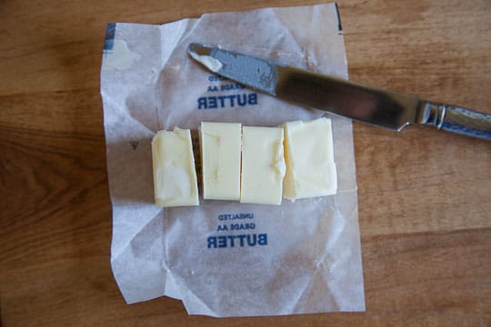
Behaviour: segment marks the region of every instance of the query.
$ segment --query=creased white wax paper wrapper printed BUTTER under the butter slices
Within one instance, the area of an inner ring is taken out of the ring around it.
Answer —
[[[191,42],[347,78],[334,4],[107,26],[101,94],[111,265],[125,301],[166,295],[190,314],[218,317],[365,311],[350,120],[220,78],[186,54]],[[323,115],[333,123],[336,195],[281,205],[203,198],[195,207],[155,205],[151,140],[158,130],[195,130],[202,121],[276,126]]]

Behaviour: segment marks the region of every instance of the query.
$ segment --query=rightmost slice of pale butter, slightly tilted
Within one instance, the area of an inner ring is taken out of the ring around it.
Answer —
[[[331,120],[288,122],[285,129],[286,175],[283,196],[295,201],[337,192]]]

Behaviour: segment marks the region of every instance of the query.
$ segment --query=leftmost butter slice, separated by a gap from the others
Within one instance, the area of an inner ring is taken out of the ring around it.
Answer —
[[[152,140],[154,192],[157,205],[199,205],[191,131],[175,127]]]

